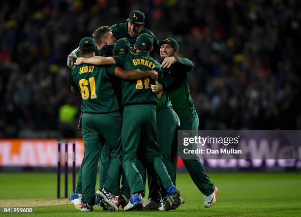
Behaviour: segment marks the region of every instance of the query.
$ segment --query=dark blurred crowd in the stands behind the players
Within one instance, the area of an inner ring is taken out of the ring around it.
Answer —
[[[1,1],[0,138],[57,129],[79,136],[67,55],[134,9],[194,63],[200,129],[301,129],[300,8],[299,0]]]

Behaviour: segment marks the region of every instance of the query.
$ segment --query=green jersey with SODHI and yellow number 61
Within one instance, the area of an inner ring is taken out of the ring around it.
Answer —
[[[109,78],[109,74],[114,74],[114,71],[115,66],[103,67],[92,64],[73,66],[68,83],[80,90],[82,112],[106,114],[118,110]]]

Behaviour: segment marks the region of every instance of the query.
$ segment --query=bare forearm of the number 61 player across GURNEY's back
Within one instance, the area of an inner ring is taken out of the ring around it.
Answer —
[[[115,75],[124,80],[138,80],[141,78],[158,79],[158,73],[155,70],[151,71],[138,71],[138,70],[123,70],[120,67],[115,68]]]

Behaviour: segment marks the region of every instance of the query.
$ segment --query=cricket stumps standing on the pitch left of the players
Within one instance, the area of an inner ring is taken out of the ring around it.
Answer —
[[[58,141],[58,179],[57,179],[57,198],[60,198],[60,167],[61,167],[61,144],[65,144],[65,168],[64,168],[64,178],[65,178],[65,191],[64,191],[64,197],[68,197],[68,144],[72,143],[72,189],[75,190],[75,176],[76,176],[76,167],[75,167],[75,141]]]

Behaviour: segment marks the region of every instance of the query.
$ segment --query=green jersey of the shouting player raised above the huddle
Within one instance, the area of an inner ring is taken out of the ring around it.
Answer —
[[[114,37],[119,40],[120,38],[124,38],[126,40],[129,41],[130,43],[130,46],[131,46],[131,53],[136,53],[136,47],[134,46],[135,43],[136,43],[136,39],[138,37],[135,36],[135,37],[131,37],[129,34],[128,34],[128,28],[127,28],[127,23],[119,23],[119,24],[115,24],[113,26],[111,26],[111,30],[112,30],[112,33],[114,34]],[[150,56],[153,56],[153,52],[158,52],[160,50],[160,45],[159,45],[159,40],[158,38],[151,32],[149,31],[148,29],[146,28],[142,28],[141,31],[139,32],[139,35],[140,34],[143,34],[143,33],[148,33],[151,35],[151,37],[153,38],[153,43],[152,43],[152,46],[153,46],[153,51],[150,53]]]

